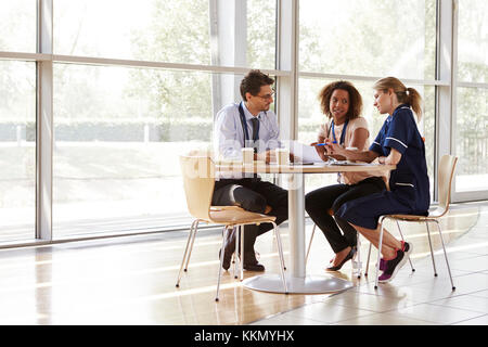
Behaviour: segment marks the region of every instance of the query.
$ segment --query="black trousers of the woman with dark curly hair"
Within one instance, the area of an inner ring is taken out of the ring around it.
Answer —
[[[357,231],[346,220],[332,214],[351,200],[386,190],[385,182],[380,177],[370,177],[357,184],[334,184],[323,187],[305,196],[305,209],[313,222],[322,230],[334,253],[357,244]],[[335,219],[335,220],[334,220]],[[341,229],[343,232],[341,232]]]

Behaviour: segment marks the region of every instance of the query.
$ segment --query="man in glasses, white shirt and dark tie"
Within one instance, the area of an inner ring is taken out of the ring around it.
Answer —
[[[216,117],[214,144],[221,158],[241,159],[242,149],[254,147],[255,159],[274,159],[280,146],[277,115],[269,111],[273,102],[274,80],[259,70],[251,70],[241,81],[240,103],[224,106]],[[215,182],[213,205],[233,205],[246,210],[277,217],[277,224],[288,218],[287,191],[252,175],[220,177]],[[256,259],[254,244],[258,235],[272,229],[271,223],[244,227],[244,269],[265,271]],[[235,233],[231,232],[223,252],[223,269],[230,268],[235,250]]]

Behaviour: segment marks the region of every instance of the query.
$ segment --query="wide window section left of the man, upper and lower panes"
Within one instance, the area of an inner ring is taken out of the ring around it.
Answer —
[[[57,0],[54,37],[55,54],[108,60],[54,64],[53,237],[187,223],[178,154],[211,147],[243,76],[111,59],[273,69],[275,1]]]

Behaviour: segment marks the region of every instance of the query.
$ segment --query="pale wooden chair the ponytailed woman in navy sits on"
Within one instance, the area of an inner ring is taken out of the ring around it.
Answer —
[[[437,277],[437,270],[436,270],[436,262],[434,259],[434,250],[432,248],[432,240],[431,240],[431,231],[428,229],[428,222],[435,222],[437,224],[437,229],[439,230],[439,236],[440,242],[442,244],[444,249],[444,256],[446,258],[446,265],[449,272],[449,278],[451,280],[452,291],[455,290],[454,283],[452,282],[452,275],[451,275],[451,269],[449,267],[449,260],[446,253],[446,246],[444,243],[442,232],[440,230],[439,219],[445,216],[449,211],[449,202],[451,197],[451,183],[452,183],[452,177],[454,176],[454,169],[455,164],[458,163],[458,157],[452,155],[444,155],[440,158],[439,162],[439,169],[438,169],[438,191],[439,191],[439,205],[436,210],[428,214],[428,216],[414,216],[414,215],[386,215],[380,217],[380,243],[378,243],[378,249],[382,248],[383,243],[383,221],[386,219],[391,219],[397,222],[398,230],[400,230],[400,223],[398,221],[407,221],[407,222],[425,222],[425,226],[427,227],[427,239],[428,239],[428,245],[431,248],[431,256],[432,256],[432,264],[434,267],[434,275]],[[368,262],[367,262],[367,271],[370,262],[370,254],[371,254],[371,244],[370,249],[368,253]],[[377,288],[377,279],[380,273],[380,258],[381,258],[381,252],[378,252],[377,255],[377,264],[376,264],[376,280],[374,284],[374,288]]]

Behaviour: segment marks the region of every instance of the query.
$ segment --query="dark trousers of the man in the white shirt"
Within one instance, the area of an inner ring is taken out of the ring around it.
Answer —
[[[277,217],[279,226],[288,219],[288,192],[260,178],[239,180],[221,179],[215,182],[214,206],[240,206],[252,213],[264,214],[266,205],[271,206],[269,216]],[[261,223],[244,227],[244,253],[254,252],[256,237],[271,230],[273,224]]]

